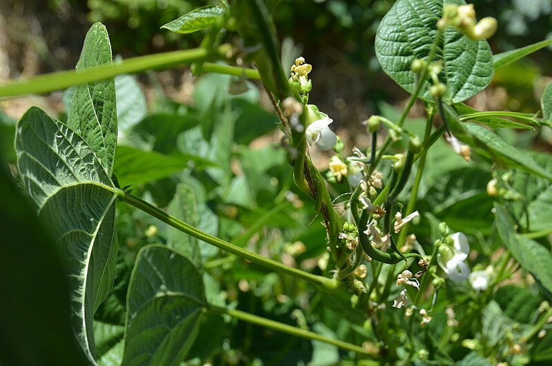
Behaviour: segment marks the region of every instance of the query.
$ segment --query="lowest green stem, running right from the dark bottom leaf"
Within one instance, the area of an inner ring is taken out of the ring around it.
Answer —
[[[367,351],[366,349],[359,347],[357,345],[353,345],[351,343],[343,342],[342,340],[336,340],[332,338],[327,338],[324,336],[321,336],[320,334],[317,334],[313,331],[308,331],[305,329],[293,327],[291,325],[284,324],[282,322],[277,322],[275,320],[270,320],[266,318],[262,318],[260,316],[256,316],[253,314],[246,313],[245,311],[239,311],[237,309],[225,309],[223,307],[217,307],[214,305],[208,305],[208,309],[210,311],[213,311],[217,314],[227,314],[229,316],[232,316],[233,318],[237,318],[239,320],[244,320],[245,322],[250,322],[252,324],[260,325],[262,327],[266,327],[268,329],[273,329],[276,331],[282,331],[287,334],[291,334],[292,336],[297,336],[301,338],[306,338],[309,340],[319,340],[324,343],[328,343],[330,345],[335,345],[342,349],[348,349],[349,351],[357,352],[358,354],[369,354],[373,355],[371,352]]]

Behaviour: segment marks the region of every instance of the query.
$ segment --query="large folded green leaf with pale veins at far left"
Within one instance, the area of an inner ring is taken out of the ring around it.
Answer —
[[[15,148],[23,186],[66,258],[73,327],[94,363],[92,316],[115,276],[114,202],[121,191],[86,141],[39,108],[21,117]]]

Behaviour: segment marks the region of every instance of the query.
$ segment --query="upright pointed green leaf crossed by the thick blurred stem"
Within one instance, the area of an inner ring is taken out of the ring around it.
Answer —
[[[106,27],[95,23],[84,39],[77,72],[103,65],[111,65],[111,44]],[[83,137],[111,174],[117,147],[115,79],[77,86],[73,92],[67,124]]]

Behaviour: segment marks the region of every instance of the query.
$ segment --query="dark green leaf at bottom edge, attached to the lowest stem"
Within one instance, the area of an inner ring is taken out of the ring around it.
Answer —
[[[179,365],[205,304],[201,274],[188,259],[161,245],[141,249],[128,290],[123,365]]]

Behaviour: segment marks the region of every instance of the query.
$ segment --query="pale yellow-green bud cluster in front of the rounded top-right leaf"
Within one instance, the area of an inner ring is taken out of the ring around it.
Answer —
[[[437,21],[437,29],[443,31],[445,26],[453,26],[469,39],[478,41],[493,37],[497,21],[495,18],[485,17],[477,22],[473,4],[447,4],[443,8],[443,17]]]

